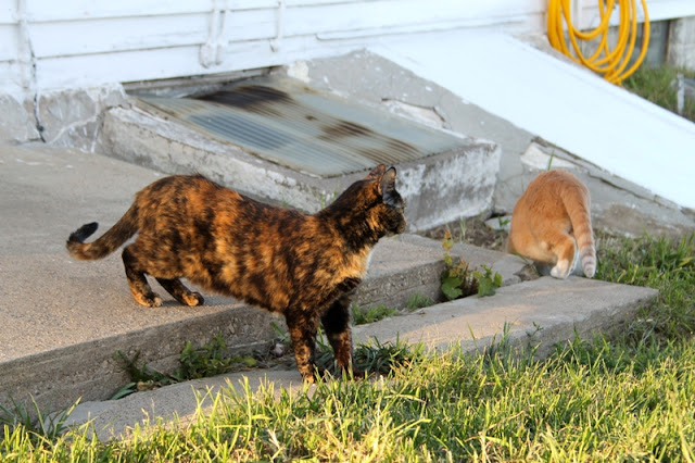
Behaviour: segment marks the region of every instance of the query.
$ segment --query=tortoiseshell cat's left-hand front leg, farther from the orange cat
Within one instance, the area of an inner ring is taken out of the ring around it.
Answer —
[[[314,351],[316,349],[318,314],[307,313],[301,309],[289,309],[285,313],[285,321],[290,330],[296,368],[305,381],[315,383]]]

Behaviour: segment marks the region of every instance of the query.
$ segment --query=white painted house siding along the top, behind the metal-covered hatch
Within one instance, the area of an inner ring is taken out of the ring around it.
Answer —
[[[2,0],[0,93],[240,71],[470,27],[545,29],[547,0]],[[594,0],[581,0],[592,22]],[[655,20],[693,0],[649,0]]]

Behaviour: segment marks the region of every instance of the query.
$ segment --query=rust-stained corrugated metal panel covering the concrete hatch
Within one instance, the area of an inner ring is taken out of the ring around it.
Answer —
[[[260,158],[320,177],[413,161],[465,143],[277,76],[235,83],[201,99],[142,100]]]

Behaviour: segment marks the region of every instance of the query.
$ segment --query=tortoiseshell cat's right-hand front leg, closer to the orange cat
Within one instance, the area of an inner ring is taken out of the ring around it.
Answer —
[[[364,372],[351,365],[352,363],[352,334],[350,330],[350,301],[349,296],[343,296],[334,301],[321,316],[321,324],[328,342],[333,348],[336,362],[343,372],[352,367],[354,376],[362,376]]]

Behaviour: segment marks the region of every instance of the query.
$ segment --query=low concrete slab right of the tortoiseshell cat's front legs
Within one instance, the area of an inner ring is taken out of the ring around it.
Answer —
[[[650,288],[595,279],[543,277],[503,287],[492,297],[471,296],[357,326],[354,338],[356,342],[377,338],[382,343],[399,338],[432,349],[460,342],[464,351],[470,351],[500,340],[508,330],[513,343],[538,347],[536,354],[545,356],[555,343],[574,334],[585,338],[619,330],[657,295]]]

